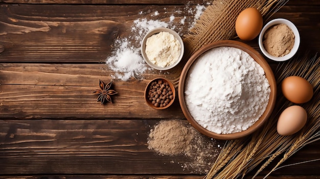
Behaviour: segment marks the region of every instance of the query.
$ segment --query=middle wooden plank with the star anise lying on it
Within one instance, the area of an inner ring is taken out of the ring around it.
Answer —
[[[144,74],[146,80],[114,81],[113,104],[101,105],[92,92],[99,79],[113,79],[104,64],[0,64],[0,118],[185,118],[176,98],[173,106],[154,110],[144,90],[151,79],[175,74]],[[172,113],[172,110],[176,111]]]

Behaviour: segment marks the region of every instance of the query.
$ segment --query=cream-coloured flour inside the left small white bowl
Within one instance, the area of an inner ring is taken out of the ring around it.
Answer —
[[[147,38],[145,51],[151,63],[166,67],[179,59],[181,46],[169,32],[159,32]]]

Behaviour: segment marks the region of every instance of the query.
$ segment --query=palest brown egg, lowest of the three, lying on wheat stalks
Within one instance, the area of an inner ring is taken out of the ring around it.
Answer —
[[[280,114],[277,131],[282,136],[289,136],[300,131],[306,122],[306,110],[301,106],[290,106]]]

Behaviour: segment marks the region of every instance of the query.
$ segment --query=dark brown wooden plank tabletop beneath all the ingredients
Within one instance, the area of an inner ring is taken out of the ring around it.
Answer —
[[[185,117],[177,100],[163,111],[148,107],[144,88],[158,76],[174,80],[177,72],[151,70],[121,81],[110,77],[105,64],[115,39],[129,36],[135,19],[186,16],[183,35],[194,19],[184,10],[209,1],[154,2],[0,0],[0,178],[204,176],[170,162],[188,158],[147,148],[152,126]],[[271,18],[278,17],[297,25],[301,52],[320,52],[319,1],[289,1]],[[259,50],[257,40],[246,43]],[[273,69],[278,65],[267,61]],[[113,80],[119,93],[113,104],[96,102],[92,92],[99,79]],[[285,164],[320,159],[319,148],[320,141],[309,144]],[[281,168],[269,178],[320,178],[319,169],[318,160]]]

